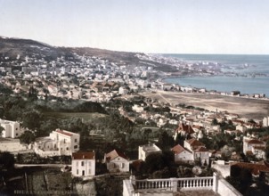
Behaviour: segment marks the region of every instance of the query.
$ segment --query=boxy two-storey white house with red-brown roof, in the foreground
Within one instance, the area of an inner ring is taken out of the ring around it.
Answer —
[[[95,176],[95,153],[72,153],[72,176]]]

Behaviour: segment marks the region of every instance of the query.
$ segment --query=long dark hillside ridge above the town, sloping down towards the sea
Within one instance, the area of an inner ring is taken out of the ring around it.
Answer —
[[[175,67],[156,61],[141,60],[136,54],[118,52],[90,47],[56,47],[31,39],[0,37],[0,61],[25,61],[25,57],[37,60],[55,61],[57,58],[65,61],[79,61],[76,54],[95,56],[105,60],[127,64],[129,66],[153,66],[154,69],[173,72]]]

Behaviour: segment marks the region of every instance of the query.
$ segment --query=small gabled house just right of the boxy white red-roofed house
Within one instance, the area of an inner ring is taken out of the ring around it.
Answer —
[[[124,153],[113,150],[104,154],[104,162],[110,172],[128,172],[129,160]]]

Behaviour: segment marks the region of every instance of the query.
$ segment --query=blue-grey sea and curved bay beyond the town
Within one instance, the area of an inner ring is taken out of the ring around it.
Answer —
[[[208,91],[265,94],[267,98],[269,97],[269,55],[162,54],[162,56],[188,63],[219,63],[224,73],[210,77],[166,78],[164,81],[167,83],[206,88]],[[234,74],[231,75],[231,72]]]

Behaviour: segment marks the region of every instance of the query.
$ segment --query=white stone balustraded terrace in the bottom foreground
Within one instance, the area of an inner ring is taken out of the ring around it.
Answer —
[[[179,192],[208,192],[207,195],[241,196],[224,178],[217,176],[124,180],[124,196],[174,195]],[[193,194],[192,194],[193,195]],[[195,194],[194,194],[195,195]]]

